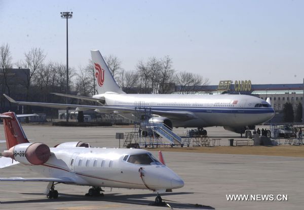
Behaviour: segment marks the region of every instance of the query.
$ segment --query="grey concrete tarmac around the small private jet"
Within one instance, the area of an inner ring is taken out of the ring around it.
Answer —
[[[116,132],[132,131],[124,127],[24,126],[30,142],[50,147],[62,142],[83,141],[93,147],[118,147]],[[184,129],[177,129],[182,133]],[[208,134],[238,138],[239,134],[222,127],[207,128]],[[5,139],[0,128],[0,140]],[[122,143],[121,143],[122,144]],[[228,143],[225,143],[226,145]],[[0,144],[0,151],[6,144]],[[152,152],[157,155],[157,152]],[[174,209],[303,209],[304,158],[164,152],[166,165],[183,180],[184,187],[162,198]],[[21,164],[0,169],[0,177],[41,177]],[[0,182],[0,209],[169,209],[149,205],[156,194],[148,190],[105,188],[104,197],[84,196],[89,187],[56,185],[58,199],[42,193],[47,183]],[[287,195],[285,201],[228,201],[226,195]]]

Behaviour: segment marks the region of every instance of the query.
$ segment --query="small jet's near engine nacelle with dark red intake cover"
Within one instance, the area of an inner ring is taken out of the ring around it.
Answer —
[[[14,160],[20,163],[42,165],[51,156],[50,148],[43,143],[23,143],[12,147]]]

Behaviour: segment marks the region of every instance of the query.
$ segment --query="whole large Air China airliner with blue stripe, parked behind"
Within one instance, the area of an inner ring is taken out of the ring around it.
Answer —
[[[5,96],[11,102],[22,105],[59,109],[69,107],[77,108],[79,111],[94,109],[99,113],[115,112],[133,121],[136,120],[134,108],[140,102],[141,106],[151,109],[151,113],[154,114],[151,120],[163,122],[170,128],[198,127],[203,129],[210,126],[224,126],[225,129],[237,133],[244,133],[248,127],[266,122],[275,115],[274,109],[267,101],[249,95],[126,94],[113,79],[100,52],[92,50],[91,55],[96,71],[95,77],[99,94],[93,97],[54,94],[97,101],[100,106],[23,102]],[[205,134],[207,134],[206,131]]]

